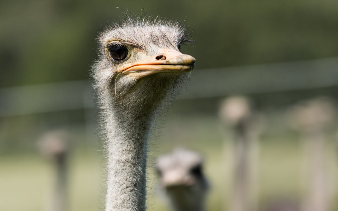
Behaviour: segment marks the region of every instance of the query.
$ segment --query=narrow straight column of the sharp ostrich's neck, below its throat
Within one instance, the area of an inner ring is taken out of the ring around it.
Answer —
[[[109,118],[106,211],[143,211],[152,114],[128,115],[115,109]]]

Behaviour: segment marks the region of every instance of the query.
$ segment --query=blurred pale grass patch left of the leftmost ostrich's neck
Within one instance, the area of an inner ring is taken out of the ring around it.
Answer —
[[[52,186],[52,167],[32,155],[11,155],[0,160],[1,210],[42,210]]]

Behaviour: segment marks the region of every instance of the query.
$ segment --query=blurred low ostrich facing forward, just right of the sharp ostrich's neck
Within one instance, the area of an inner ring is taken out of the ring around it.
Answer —
[[[202,164],[199,153],[179,148],[158,158],[159,185],[174,211],[204,210],[208,184]]]

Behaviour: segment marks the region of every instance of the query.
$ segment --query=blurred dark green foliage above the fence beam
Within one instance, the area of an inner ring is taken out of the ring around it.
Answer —
[[[0,86],[89,78],[97,31],[122,10],[191,25],[196,68],[338,55],[335,0],[27,0],[0,3]]]

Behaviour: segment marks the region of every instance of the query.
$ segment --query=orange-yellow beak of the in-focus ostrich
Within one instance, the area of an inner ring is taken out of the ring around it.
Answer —
[[[122,66],[117,73],[142,78],[155,73],[186,73],[195,67],[195,58],[172,49],[160,55]]]

